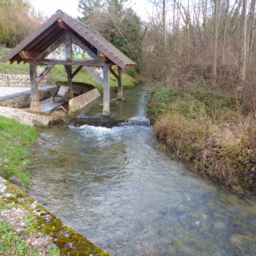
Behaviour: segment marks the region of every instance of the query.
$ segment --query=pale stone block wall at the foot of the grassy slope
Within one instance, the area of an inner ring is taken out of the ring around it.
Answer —
[[[39,86],[45,86],[47,83],[46,78],[44,78]],[[3,87],[30,87],[30,77],[29,75],[9,75],[0,74],[0,86]]]

